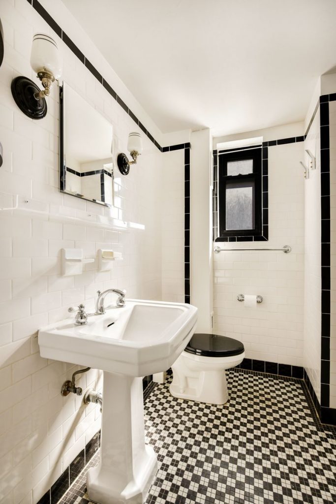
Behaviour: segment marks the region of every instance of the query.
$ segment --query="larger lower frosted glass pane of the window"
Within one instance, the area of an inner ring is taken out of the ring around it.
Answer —
[[[253,229],[253,192],[254,186],[237,183],[226,186],[226,230]]]

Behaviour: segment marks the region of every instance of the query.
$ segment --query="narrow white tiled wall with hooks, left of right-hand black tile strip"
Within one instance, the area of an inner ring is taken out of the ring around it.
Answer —
[[[316,170],[305,181],[305,295],[303,365],[321,402],[321,156],[320,114],[311,124],[304,148],[316,156]],[[307,158],[303,158],[307,163]]]

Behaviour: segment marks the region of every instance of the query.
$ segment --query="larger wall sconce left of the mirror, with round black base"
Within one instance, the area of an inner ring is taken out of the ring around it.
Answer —
[[[43,90],[27,77],[16,77],[12,81],[12,95],[20,110],[31,119],[42,119],[47,113],[45,97],[55,79],[62,74],[62,61],[56,42],[43,33],[33,37],[30,57],[32,69],[42,82]]]

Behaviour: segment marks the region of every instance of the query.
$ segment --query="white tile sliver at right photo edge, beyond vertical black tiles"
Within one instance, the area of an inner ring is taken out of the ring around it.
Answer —
[[[330,135],[330,408],[336,408],[336,101],[329,102]]]

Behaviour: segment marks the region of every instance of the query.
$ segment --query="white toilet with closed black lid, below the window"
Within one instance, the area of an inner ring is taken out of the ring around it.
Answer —
[[[196,333],[171,366],[172,396],[210,404],[229,399],[225,369],[237,366],[245,356],[244,345],[217,334]]]

